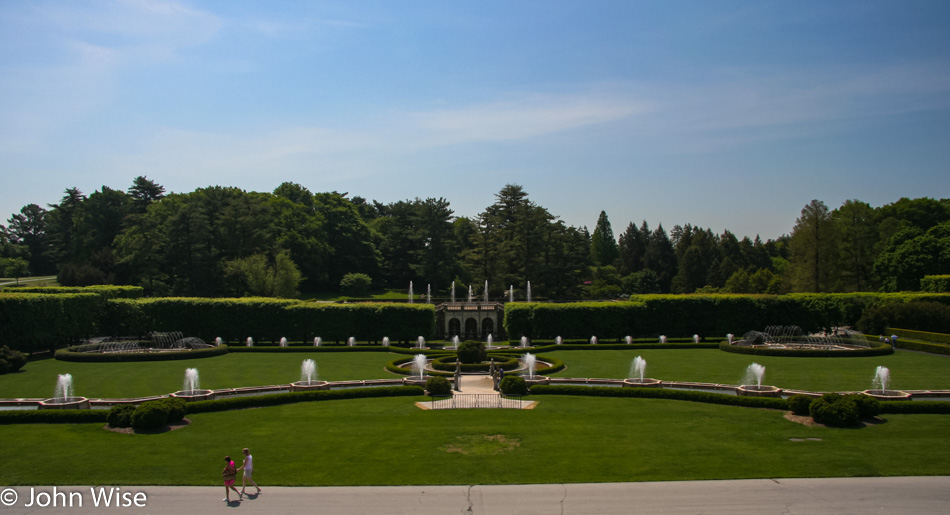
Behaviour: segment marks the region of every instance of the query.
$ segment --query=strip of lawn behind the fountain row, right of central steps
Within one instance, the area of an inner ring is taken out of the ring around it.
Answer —
[[[564,360],[556,377],[628,377],[636,356],[647,361],[646,375],[666,381],[739,384],[752,362],[765,365],[764,384],[810,391],[871,388],[879,365],[891,371],[889,389],[950,389],[950,356],[897,351],[862,358],[747,356],[715,349],[544,352]]]

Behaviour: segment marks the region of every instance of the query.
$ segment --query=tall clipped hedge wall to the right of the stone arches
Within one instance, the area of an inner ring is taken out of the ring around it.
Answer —
[[[911,301],[950,305],[950,294],[637,295],[624,302],[508,303],[505,330],[512,339],[725,335],[770,325],[816,331],[854,325],[872,307]]]

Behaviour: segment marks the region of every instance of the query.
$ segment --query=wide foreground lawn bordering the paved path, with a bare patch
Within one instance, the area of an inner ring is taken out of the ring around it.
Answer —
[[[827,429],[777,411],[658,399],[545,396],[520,411],[423,411],[417,400],[198,414],[154,435],[0,426],[0,484],[217,486],[222,457],[245,446],[265,488],[950,474],[941,415]]]

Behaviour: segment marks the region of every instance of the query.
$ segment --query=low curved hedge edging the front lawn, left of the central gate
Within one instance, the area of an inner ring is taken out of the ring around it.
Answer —
[[[208,413],[244,408],[279,406],[297,402],[328,401],[335,399],[362,399],[368,397],[412,397],[425,395],[420,386],[381,386],[345,390],[317,390],[309,392],[273,393],[254,397],[234,397],[213,401],[196,401],[187,404],[188,413]]]

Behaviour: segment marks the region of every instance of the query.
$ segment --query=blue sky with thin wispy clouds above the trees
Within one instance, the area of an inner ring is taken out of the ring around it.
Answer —
[[[950,2],[0,0],[0,223],[70,187],[506,184],[763,239],[950,197]]]

